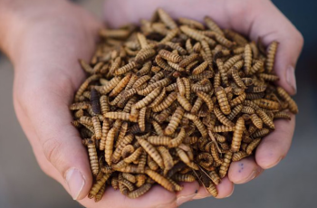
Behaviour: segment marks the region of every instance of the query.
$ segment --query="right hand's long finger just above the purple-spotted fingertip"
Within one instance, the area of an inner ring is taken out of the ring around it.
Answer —
[[[295,116],[291,120],[280,119],[274,121],[275,130],[264,137],[255,152],[257,165],[268,169],[277,165],[291,147]]]

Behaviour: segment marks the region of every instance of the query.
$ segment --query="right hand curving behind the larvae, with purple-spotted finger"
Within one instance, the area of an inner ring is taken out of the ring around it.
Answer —
[[[303,36],[289,20],[268,0],[117,0],[107,1],[104,17],[108,24],[119,26],[128,22],[138,23],[139,19],[149,19],[151,14],[162,7],[171,16],[189,17],[203,21],[205,15],[210,15],[222,28],[230,28],[243,33],[252,40],[261,37],[267,46],[273,41],[279,42],[274,71],[280,77],[278,82],[290,94],[296,92],[294,68],[302,51]],[[145,9],[146,8],[146,9]],[[219,198],[233,192],[233,184],[244,184],[260,175],[264,169],[277,165],[287,154],[293,137],[295,117],[292,120],[277,120],[275,130],[264,137],[257,148],[255,156],[250,156],[230,166],[228,178],[217,186]],[[232,182],[232,183],[231,183]],[[204,188],[193,196],[181,201],[207,197]]]

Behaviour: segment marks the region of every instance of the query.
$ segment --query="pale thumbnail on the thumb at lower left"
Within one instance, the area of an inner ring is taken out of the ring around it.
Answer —
[[[74,167],[70,168],[66,172],[66,182],[70,188],[72,199],[77,200],[82,192],[83,185],[85,184],[82,173]]]

